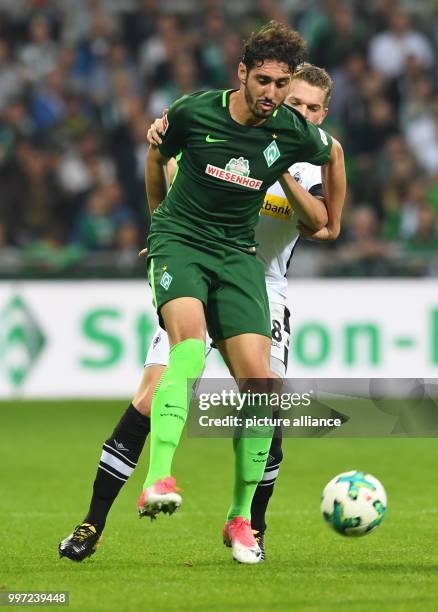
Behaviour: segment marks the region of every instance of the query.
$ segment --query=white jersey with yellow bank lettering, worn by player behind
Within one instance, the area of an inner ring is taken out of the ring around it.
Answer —
[[[293,164],[289,172],[306,191],[322,185],[320,166],[300,162]],[[277,181],[266,193],[256,227],[257,257],[265,266],[270,302],[283,304],[286,301],[286,272],[299,236],[297,220],[293,207]]]

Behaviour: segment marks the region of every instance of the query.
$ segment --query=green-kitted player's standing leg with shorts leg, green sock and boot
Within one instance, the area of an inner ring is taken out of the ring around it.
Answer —
[[[239,387],[269,393],[275,380],[269,367],[271,326],[264,267],[255,255],[223,247],[221,283],[209,294],[209,332]],[[262,414],[261,414],[262,413]],[[270,416],[268,405],[244,406],[249,424],[253,416]],[[247,427],[233,439],[235,470],[233,497],[224,528],[224,542],[233,557],[258,563],[261,551],[251,530],[251,501],[263,476],[273,430]]]

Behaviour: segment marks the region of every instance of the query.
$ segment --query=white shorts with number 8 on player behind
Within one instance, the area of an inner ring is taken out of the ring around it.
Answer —
[[[287,361],[289,357],[290,342],[290,312],[284,304],[269,304],[271,312],[272,344],[271,344],[271,369],[280,376],[286,377]],[[207,335],[207,354],[210,352],[210,337]],[[169,363],[169,337],[164,329],[157,331],[149,345],[146,355],[145,368],[153,365],[167,366]]]

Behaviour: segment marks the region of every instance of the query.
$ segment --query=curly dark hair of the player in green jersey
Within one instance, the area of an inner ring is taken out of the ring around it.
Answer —
[[[307,45],[304,38],[284,23],[270,21],[253,32],[243,47],[242,62],[248,72],[266,60],[284,62],[291,72],[305,60]]]

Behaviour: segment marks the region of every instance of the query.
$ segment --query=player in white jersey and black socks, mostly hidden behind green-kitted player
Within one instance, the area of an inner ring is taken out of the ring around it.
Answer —
[[[303,64],[292,76],[286,102],[299,110],[306,119],[320,125],[327,116],[332,88],[332,80],[325,70]],[[157,120],[151,127],[148,133],[150,142],[161,142],[160,126],[160,120]],[[168,171],[171,181],[172,164],[169,164]],[[265,265],[272,322],[271,370],[282,379],[286,376],[290,337],[286,272],[295,245],[300,234],[321,241],[336,239],[342,212],[342,203],[330,198],[330,185],[325,184],[323,191],[319,166],[296,163],[290,167],[289,173],[290,180],[282,179],[281,185],[277,182],[268,189],[256,231],[259,243],[257,256]],[[328,212],[327,225],[316,232],[307,228],[294,210],[306,211],[315,204],[319,205],[320,202],[315,202],[314,198],[323,199]],[[167,334],[158,328],[146,357],[139,389],[112,435],[104,443],[89,512],[83,523],[60,543],[61,556],[81,561],[95,552],[111,505],[133,472],[150,431],[151,398],[167,366],[168,356]],[[257,531],[262,558],[265,556],[265,515],[281,460],[281,428],[277,428],[265,473],[251,508],[251,526]]]

